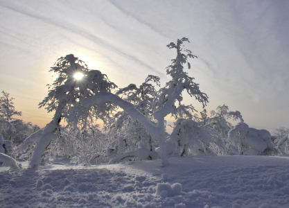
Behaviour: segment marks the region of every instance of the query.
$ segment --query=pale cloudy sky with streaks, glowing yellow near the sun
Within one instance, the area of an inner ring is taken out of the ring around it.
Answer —
[[[53,114],[38,103],[61,56],[73,53],[119,87],[149,74],[164,86],[175,58],[166,45],[187,37],[198,56],[188,72],[209,96],[208,112],[226,104],[250,127],[289,128],[288,10],[286,0],[0,0],[0,91],[43,127]]]

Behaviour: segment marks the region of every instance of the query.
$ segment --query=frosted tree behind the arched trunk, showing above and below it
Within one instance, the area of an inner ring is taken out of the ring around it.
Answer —
[[[154,109],[152,103],[157,96],[157,90],[153,84],[160,86],[159,77],[149,75],[139,87],[130,84],[128,87],[119,89],[116,95],[132,103],[139,112],[153,120],[152,113]],[[116,121],[113,120],[114,125],[109,129],[110,132],[114,132],[114,139],[117,139],[117,142],[113,142],[113,146],[109,148],[110,151],[114,149],[114,156],[132,152],[139,148],[155,150],[153,145],[155,141],[148,135],[146,128],[139,121],[133,120],[124,111],[119,111],[115,114],[115,117]]]

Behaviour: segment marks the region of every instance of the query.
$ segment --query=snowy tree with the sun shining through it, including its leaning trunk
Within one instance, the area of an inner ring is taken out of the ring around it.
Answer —
[[[116,85],[100,71],[89,70],[85,62],[78,60],[73,54],[59,58],[50,72],[56,73],[57,78],[52,85],[49,85],[49,94],[40,103],[40,107],[46,107],[48,112],[55,111],[53,120],[43,130],[35,132],[24,141],[24,146],[27,146],[30,141],[37,142],[30,162],[33,168],[39,166],[51,141],[60,138],[62,119],[68,122],[68,127],[74,126],[86,130],[96,119],[107,121],[114,109],[110,103],[89,107],[82,105],[85,98],[101,92],[111,92]]]

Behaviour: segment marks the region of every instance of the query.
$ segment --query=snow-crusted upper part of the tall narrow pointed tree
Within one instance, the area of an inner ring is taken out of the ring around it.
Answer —
[[[177,43],[171,42],[168,44],[169,49],[176,49],[177,56],[172,60],[172,63],[166,67],[166,73],[171,76],[172,80],[166,83],[164,88],[159,90],[159,94],[155,99],[155,118],[160,118],[172,113],[175,118],[188,118],[192,119],[191,112],[195,111],[192,105],[182,105],[182,91],[186,89],[186,92],[195,97],[197,101],[202,103],[203,107],[207,105],[208,96],[200,91],[199,85],[194,83],[194,78],[189,77],[188,73],[184,71],[184,64],[187,64],[188,69],[191,69],[191,64],[188,62],[188,58],[197,58],[190,50],[183,48],[183,43],[189,42],[186,37],[181,40],[177,40]],[[175,101],[178,101],[178,105],[175,105]]]

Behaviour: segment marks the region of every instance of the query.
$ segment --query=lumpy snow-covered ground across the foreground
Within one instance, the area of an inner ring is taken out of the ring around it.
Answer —
[[[0,207],[289,207],[289,157],[0,167]]]

